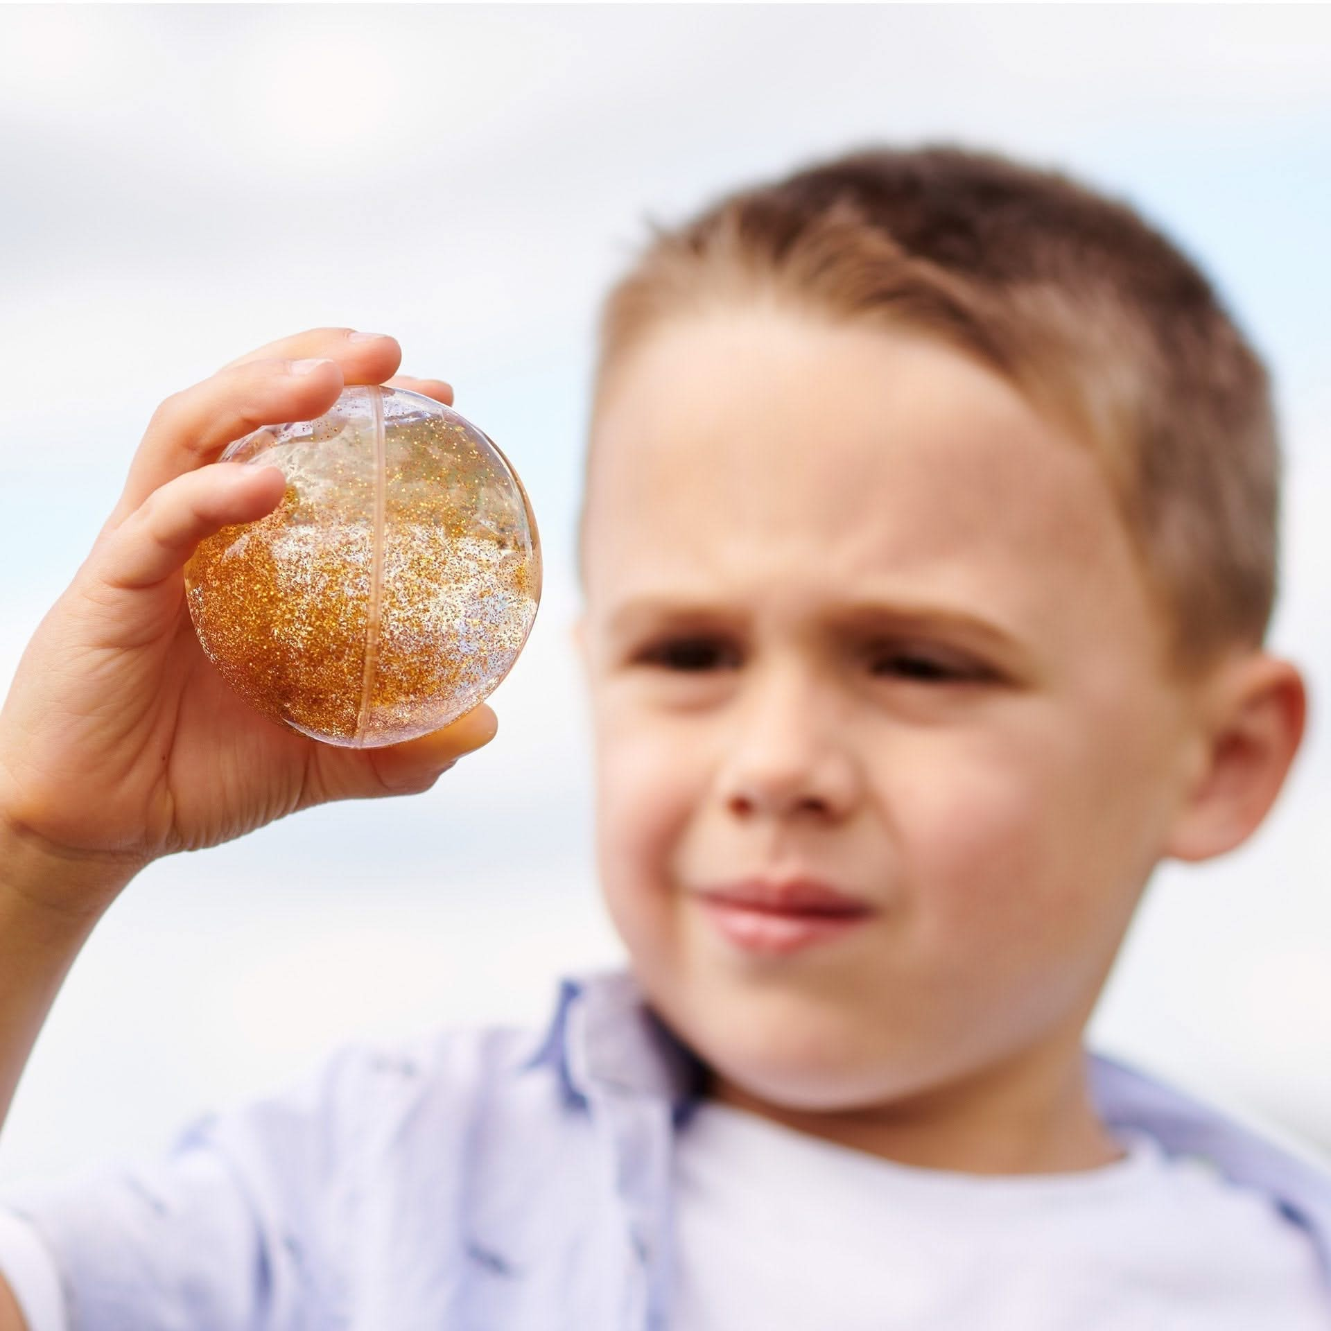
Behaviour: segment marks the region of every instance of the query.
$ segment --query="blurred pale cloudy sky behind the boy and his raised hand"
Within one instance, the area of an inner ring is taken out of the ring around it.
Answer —
[[[1275,371],[1272,646],[1311,728],[1247,845],[1158,872],[1093,1040],[1331,1157],[1331,9],[15,5],[0,49],[0,684],[157,402],[299,329],[391,333],[449,379],[546,552],[484,751],[134,881],[40,1038],[0,1185],[158,1150],[349,1038],[543,1021],[559,974],[622,960],[570,642],[599,298],[648,217],[926,138],[1135,202]]]

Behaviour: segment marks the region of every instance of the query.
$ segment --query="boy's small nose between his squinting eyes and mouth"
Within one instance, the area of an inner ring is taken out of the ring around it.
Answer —
[[[847,719],[835,697],[796,669],[773,669],[751,684],[719,780],[725,808],[745,820],[837,821],[862,789]]]

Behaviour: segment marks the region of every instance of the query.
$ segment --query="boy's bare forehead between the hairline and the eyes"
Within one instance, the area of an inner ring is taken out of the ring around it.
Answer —
[[[1029,635],[1143,610],[1090,451],[910,331],[764,309],[663,325],[607,386],[587,519],[588,602],[606,612],[881,596]]]

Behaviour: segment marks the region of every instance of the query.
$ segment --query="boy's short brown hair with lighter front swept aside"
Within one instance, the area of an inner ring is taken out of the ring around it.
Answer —
[[[1260,647],[1280,473],[1267,373],[1206,277],[1133,208],[933,145],[855,150],[648,226],[603,305],[594,413],[646,330],[736,298],[918,327],[1095,450],[1174,668]]]

